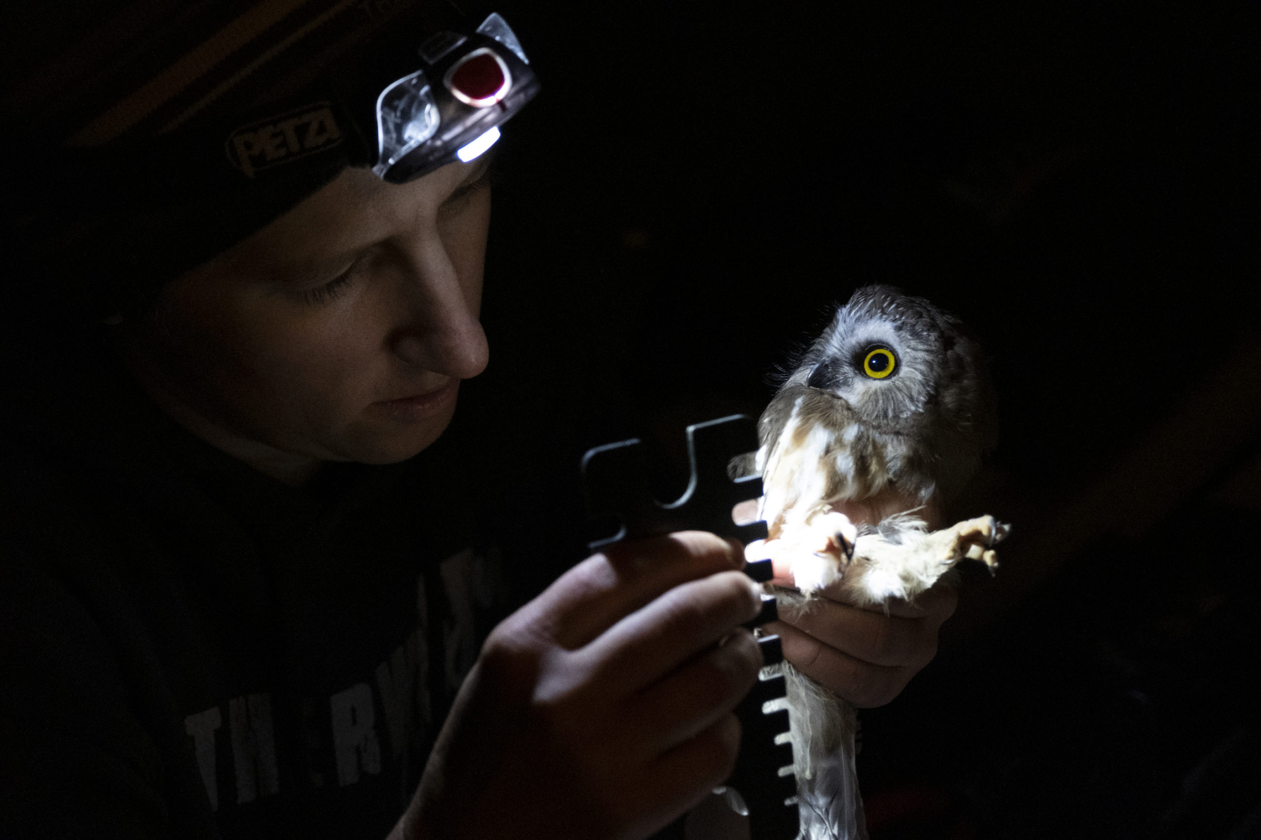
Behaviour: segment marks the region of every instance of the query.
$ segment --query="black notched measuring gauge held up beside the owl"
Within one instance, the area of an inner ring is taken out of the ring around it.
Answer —
[[[733,480],[728,476],[728,463],[757,448],[757,426],[744,414],[689,426],[691,480],[683,495],[672,502],[658,501],[648,490],[643,445],[638,440],[589,450],[583,456],[588,511],[593,518],[613,518],[622,523],[614,536],[596,540],[590,548],[595,550],[624,539],[676,530],[706,530],[744,543],[765,538],[765,523],[736,525],[731,519],[731,509],[738,502],[762,495],[762,479]],[[744,570],[764,583],[770,579],[770,560],[749,563]],[[749,626],[774,621],[777,615],[774,597],[765,596],[762,613]],[[778,636],[763,636],[758,644],[767,665],[783,661]],[[781,773],[781,768],[792,769],[792,744],[786,735],[788,710],[763,712],[764,703],[783,698],[784,691],[781,675],[759,680],[735,710],[744,734],[735,771],[726,785],[740,793],[748,807],[753,840],[793,840],[798,834],[793,798],[796,777],[791,772]],[[665,840],[682,837],[682,834],[680,819],[656,836]]]

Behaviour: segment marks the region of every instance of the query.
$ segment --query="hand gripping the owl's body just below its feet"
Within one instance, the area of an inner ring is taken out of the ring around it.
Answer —
[[[799,615],[767,625],[779,633],[784,657],[830,691],[859,708],[884,705],[937,654],[937,631],[955,612],[957,596],[938,582],[915,603],[859,608],[822,589]]]

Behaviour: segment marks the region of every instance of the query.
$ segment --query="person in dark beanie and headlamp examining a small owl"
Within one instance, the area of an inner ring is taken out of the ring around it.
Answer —
[[[489,19],[401,6],[108,9],[9,87],[66,149],[11,223],[29,277],[107,326],[57,327],[100,353],[14,409],[0,836],[633,837],[730,771],[738,545],[619,545],[482,644],[494,552],[444,432],[488,359],[488,164],[453,157],[531,71]],[[460,88],[482,49],[503,78]],[[827,602],[786,652],[883,703],[952,603]]]

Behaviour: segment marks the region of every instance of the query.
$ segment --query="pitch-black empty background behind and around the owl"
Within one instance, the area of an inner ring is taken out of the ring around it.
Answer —
[[[581,555],[580,453],[757,414],[868,282],[961,315],[1015,524],[865,712],[874,840],[1261,836],[1261,4],[503,4],[545,82],[487,272],[512,558]]]

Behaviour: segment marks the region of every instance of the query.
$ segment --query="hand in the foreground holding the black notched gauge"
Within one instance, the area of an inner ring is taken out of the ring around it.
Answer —
[[[739,545],[610,547],[491,633],[391,840],[642,837],[731,772],[762,655]]]

